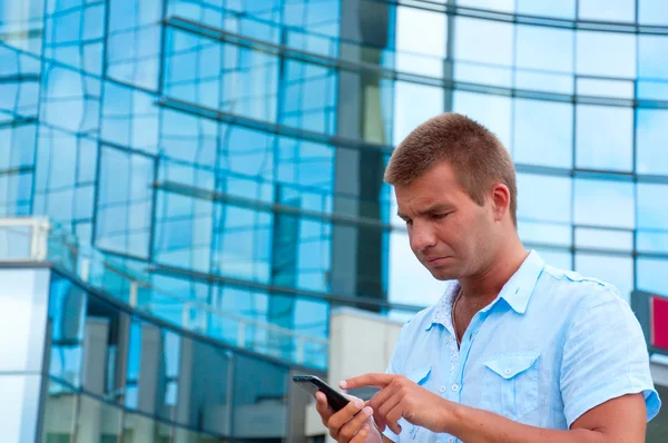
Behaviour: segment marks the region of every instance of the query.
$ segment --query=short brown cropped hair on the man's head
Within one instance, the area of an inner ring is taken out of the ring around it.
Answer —
[[[441,114],[415,128],[392,152],[384,179],[406,186],[442,161],[453,167],[459,184],[480,206],[492,185],[505,185],[517,227],[518,188],[510,155],[493,132],[466,116]]]

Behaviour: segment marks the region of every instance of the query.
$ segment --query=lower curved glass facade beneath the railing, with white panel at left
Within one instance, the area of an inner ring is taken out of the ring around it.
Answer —
[[[3,441],[291,440],[291,365],[185,332],[58,272],[0,276]]]

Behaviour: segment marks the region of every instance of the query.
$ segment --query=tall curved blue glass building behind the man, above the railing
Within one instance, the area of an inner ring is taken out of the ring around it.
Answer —
[[[0,217],[48,217],[161,336],[326,370],[333,306],[440,297],[382,176],[456,111],[510,150],[527,247],[668,295],[666,60],[664,0],[0,0]],[[92,275],[57,262],[50,301]]]

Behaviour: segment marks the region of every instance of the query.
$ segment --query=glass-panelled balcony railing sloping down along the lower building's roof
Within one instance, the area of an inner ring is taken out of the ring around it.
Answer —
[[[70,233],[48,219],[0,218],[2,263],[51,263],[130,307],[185,329],[295,364],[326,367],[326,338],[232,314],[157,288],[148,273],[129,269],[119,260],[80,245]]]

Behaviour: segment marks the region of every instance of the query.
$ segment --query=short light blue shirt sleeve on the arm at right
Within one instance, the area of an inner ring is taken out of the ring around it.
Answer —
[[[613,287],[590,288],[599,294],[582,296],[563,343],[560,384],[568,425],[611,398],[637,393],[645,396],[650,421],[661,402],[640,324]]]

